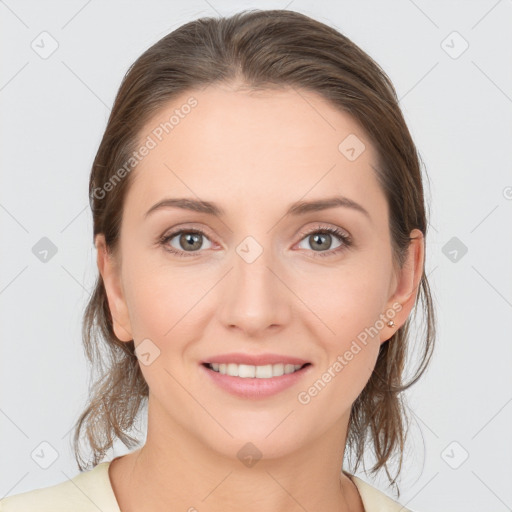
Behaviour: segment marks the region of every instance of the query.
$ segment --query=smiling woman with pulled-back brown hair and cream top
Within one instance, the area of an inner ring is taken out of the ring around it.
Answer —
[[[291,11],[187,23],[124,78],[90,199],[82,473],[1,510],[406,510],[352,474],[371,450],[396,483],[435,338],[419,158],[366,53]]]

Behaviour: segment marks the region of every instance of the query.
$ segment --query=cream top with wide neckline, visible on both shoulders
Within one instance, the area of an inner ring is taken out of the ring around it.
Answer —
[[[65,482],[3,498],[0,512],[121,512],[108,475],[110,462]],[[345,474],[356,485],[365,512],[411,512],[364,480]]]

